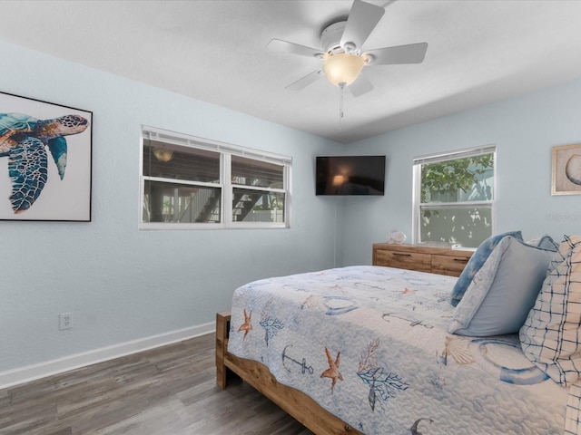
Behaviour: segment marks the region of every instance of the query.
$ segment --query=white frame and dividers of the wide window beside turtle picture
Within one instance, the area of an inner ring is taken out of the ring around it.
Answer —
[[[157,140],[164,143],[189,147],[198,150],[210,150],[220,153],[220,183],[203,183],[182,181],[185,185],[195,185],[201,187],[212,187],[222,189],[221,195],[221,217],[219,223],[176,223],[176,222],[143,222],[143,198],[146,180],[167,181],[176,183],[175,179],[161,179],[143,175],[143,146],[145,140]],[[208,140],[189,136],[174,131],[166,131],[150,126],[142,126],[141,146],[139,153],[140,165],[140,189],[139,189],[139,229],[232,229],[232,228],[288,228],[291,227],[291,173],[292,158],[281,154],[275,154],[262,150],[252,150],[250,148],[232,145],[217,140]],[[240,156],[245,159],[266,161],[280,165],[283,170],[282,189],[256,188],[252,186],[238,185],[231,182],[231,156]],[[235,222],[232,221],[232,191],[233,189],[259,190],[264,192],[284,194],[284,222]]]

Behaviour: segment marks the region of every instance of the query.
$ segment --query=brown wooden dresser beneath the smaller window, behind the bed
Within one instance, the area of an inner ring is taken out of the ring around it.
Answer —
[[[373,244],[373,266],[459,276],[473,251],[426,245]]]

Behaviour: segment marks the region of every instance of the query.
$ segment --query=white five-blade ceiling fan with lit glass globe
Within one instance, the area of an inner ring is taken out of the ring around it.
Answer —
[[[273,39],[267,47],[279,53],[299,54],[322,60],[322,68],[291,83],[286,88],[298,91],[321,76],[341,90],[348,87],[354,96],[362,95],[373,89],[369,80],[359,73],[365,66],[422,63],[428,50],[428,43],[409,43],[363,51],[362,46],[373,32],[385,13],[381,6],[354,0],[347,21],[330,24],[320,34],[322,50]]]

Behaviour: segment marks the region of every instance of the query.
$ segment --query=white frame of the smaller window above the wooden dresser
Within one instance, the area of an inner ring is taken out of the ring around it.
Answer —
[[[494,174],[493,193],[489,201],[458,201],[458,202],[428,202],[421,204],[421,165],[426,163],[438,163],[447,160],[457,160],[481,154],[493,154]],[[412,243],[421,243],[421,210],[426,208],[476,208],[490,206],[491,231],[496,234],[496,204],[497,204],[497,146],[488,144],[481,147],[465,150],[455,150],[438,154],[428,154],[413,159],[413,196],[412,196]]]

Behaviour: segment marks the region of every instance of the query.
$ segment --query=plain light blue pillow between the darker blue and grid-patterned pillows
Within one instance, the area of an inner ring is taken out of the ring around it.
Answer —
[[[535,305],[555,252],[503,237],[468,285],[448,333],[486,337],[517,333]]]

